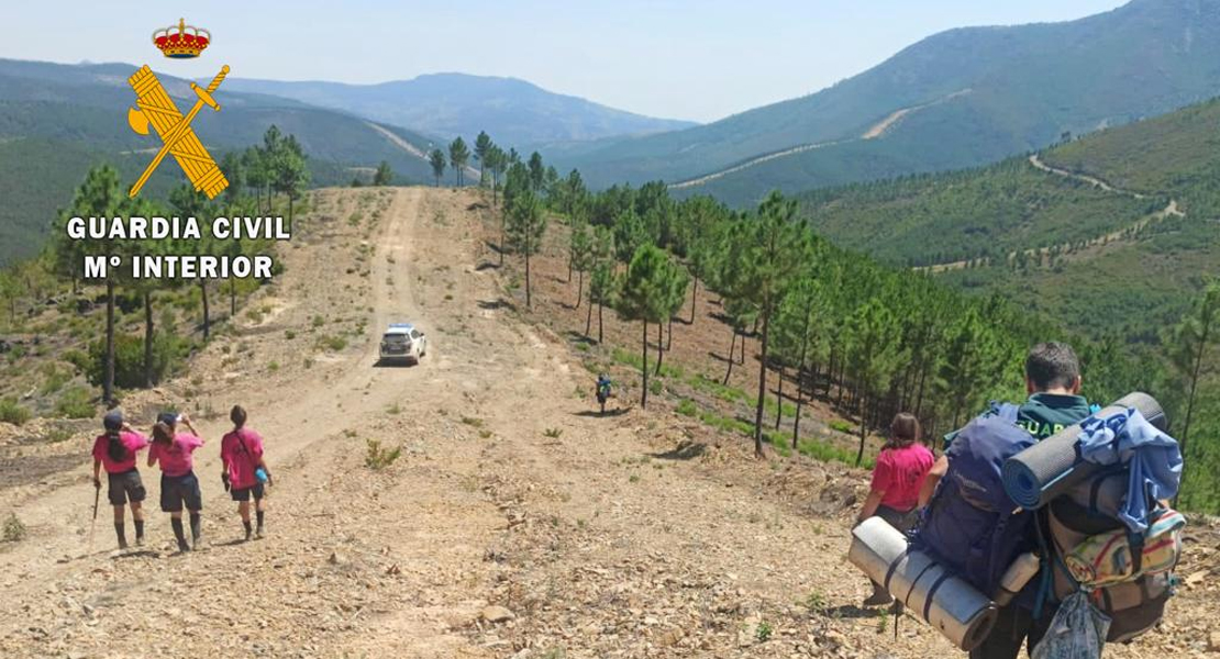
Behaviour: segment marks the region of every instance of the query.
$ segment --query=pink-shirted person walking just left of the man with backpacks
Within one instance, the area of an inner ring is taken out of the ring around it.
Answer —
[[[920,486],[936,460],[919,440],[919,419],[906,412],[895,415],[889,424],[889,441],[881,448],[877,465],[872,469],[869,498],[864,499],[856,524],[876,515],[903,532],[915,525]],[[864,605],[883,607],[893,599],[874,581],[872,594],[864,601]]]

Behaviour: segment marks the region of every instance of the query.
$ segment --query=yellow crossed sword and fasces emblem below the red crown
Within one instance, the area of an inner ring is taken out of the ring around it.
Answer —
[[[190,112],[185,117],[178,112],[178,107],[170,99],[165,88],[161,86],[161,80],[157,80],[148,66],[140,67],[139,71],[128,78],[127,82],[132,85],[137,97],[135,107],[127,111],[128,125],[140,135],[148,135],[149,123],[151,123],[157,134],[161,135],[161,141],[163,143],[156,157],[152,158],[152,162],[140,174],[139,180],[132,186],[128,196],[134,197],[140,192],[140,188],[148,183],[149,177],[161,164],[161,161],[165,160],[166,153],[173,153],[173,158],[178,161],[182,171],[187,173],[187,178],[194,184],[195,190],[203,191],[207,195],[207,199],[215,199],[216,195],[228,188],[228,180],[224,178],[224,174],[216,166],[216,161],[204,149],[203,143],[199,141],[195,132],[190,128],[190,122],[194,121],[195,115],[203,110],[204,105],[220,112],[221,106],[212,99],[212,93],[224,82],[224,76],[228,74],[228,71],[227,65],[221,67],[221,72],[216,74],[216,78],[207,85],[207,89],[190,83],[190,89],[199,96],[199,100],[195,101],[195,106],[190,108]]]

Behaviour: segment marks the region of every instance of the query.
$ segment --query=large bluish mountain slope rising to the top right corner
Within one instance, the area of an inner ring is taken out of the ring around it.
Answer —
[[[684,191],[750,205],[773,188],[996,162],[1218,94],[1220,0],[1135,0],[1063,23],[952,29],[816,94],[551,160],[594,185],[705,179]]]

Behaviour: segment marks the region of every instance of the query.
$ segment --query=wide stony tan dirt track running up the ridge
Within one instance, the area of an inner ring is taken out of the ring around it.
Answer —
[[[569,345],[505,301],[477,199],[321,192],[287,274],[250,305],[260,318],[124,402],[189,398],[196,417],[243,402],[277,478],[267,540],[235,542],[221,418],[196,424],[204,552],[170,555],[167,515],[150,512],[148,551],[112,553],[105,502],[90,551],[87,468],[0,491],[32,531],[0,549],[0,655],[954,655],[909,618],[894,641],[892,619],[854,607],[866,586],[843,558],[847,524],[813,504],[859,475],[755,462],[665,412],[590,414]],[[375,368],[398,319],[427,331],[428,356]],[[351,326],[364,331],[349,347],[304,358]],[[403,457],[366,469],[367,439]],[[1176,636],[1108,655],[1202,655],[1220,610],[1192,588]],[[503,614],[489,605],[514,619],[488,620]]]

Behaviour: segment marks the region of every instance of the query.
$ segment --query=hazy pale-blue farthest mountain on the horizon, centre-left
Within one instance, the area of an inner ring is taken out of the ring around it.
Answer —
[[[640,135],[695,125],[615,110],[555,94],[517,78],[434,73],[410,80],[356,85],[235,78],[232,89],[273,94],[373,121],[470,141],[486,130],[499,143],[527,146]]]

